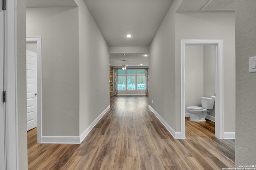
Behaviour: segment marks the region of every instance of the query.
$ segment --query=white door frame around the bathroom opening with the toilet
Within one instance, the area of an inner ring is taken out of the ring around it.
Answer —
[[[185,46],[214,45],[215,51],[215,136],[224,138],[223,122],[223,39],[187,39],[180,40],[180,113],[181,138],[186,138],[185,129]],[[216,114],[218,113],[218,114]]]

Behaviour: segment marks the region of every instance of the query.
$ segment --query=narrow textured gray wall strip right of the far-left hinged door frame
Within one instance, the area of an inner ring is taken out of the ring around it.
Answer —
[[[17,0],[16,17],[18,167],[19,170],[27,170],[26,0]]]

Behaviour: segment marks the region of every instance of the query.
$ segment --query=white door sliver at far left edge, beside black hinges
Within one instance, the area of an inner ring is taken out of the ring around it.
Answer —
[[[3,25],[4,25],[4,18],[3,18],[3,11],[2,11],[2,6],[0,10],[0,169],[4,170],[5,169],[5,136],[4,136],[4,102],[3,102],[3,91],[4,91],[4,56],[3,52],[4,51],[4,37],[3,37]]]

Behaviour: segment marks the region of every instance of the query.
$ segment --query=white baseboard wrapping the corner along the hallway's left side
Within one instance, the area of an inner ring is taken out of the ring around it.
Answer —
[[[110,105],[92,122],[92,124],[80,136],[42,136],[42,143],[70,143],[80,144],[89,134],[92,128],[98,123],[103,115],[110,109]]]

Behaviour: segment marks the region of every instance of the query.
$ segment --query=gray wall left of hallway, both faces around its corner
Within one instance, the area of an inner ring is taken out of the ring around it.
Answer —
[[[76,3],[27,9],[27,37],[42,37],[43,136],[80,136],[109,106],[108,45]]]

